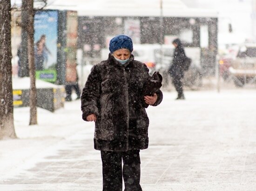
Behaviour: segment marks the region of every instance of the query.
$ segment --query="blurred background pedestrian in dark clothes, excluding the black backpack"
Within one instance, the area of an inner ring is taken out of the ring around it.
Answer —
[[[183,94],[183,87],[182,87],[182,78],[184,77],[183,74],[183,62],[184,58],[186,57],[183,45],[179,38],[176,38],[173,41],[173,45],[175,46],[174,54],[173,54],[173,60],[172,65],[170,67],[170,75],[172,77],[172,83],[174,84],[174,87],[176,91],[178,92],[178,97],[176,100],[184,100],[184,94]]]

